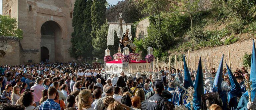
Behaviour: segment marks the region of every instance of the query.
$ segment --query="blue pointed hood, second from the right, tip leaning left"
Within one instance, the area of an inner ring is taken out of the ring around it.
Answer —
[[[239,83],[236,81],[235,76],[233,75],[232,71],[229,69],[227,63],[226,63],[226,66],[227,66],[228,77],[229,77],[229,81],[230,81],[230,85],[231,85],[230,92],[228,92],[228,102],[229,102],[230,99],[233,97],[241,97],[242,90],[241,90]]]

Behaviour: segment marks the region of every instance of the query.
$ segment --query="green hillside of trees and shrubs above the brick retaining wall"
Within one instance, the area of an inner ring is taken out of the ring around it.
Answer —
[[[141,12],[148,14],[150,21],[148,36],[135,40],[135,44],[144,52],[151,46],[155,57],[163,62],[169,62],[169,55],[174,60],[174,55],[188,50],[256,38],[254,0],[212,0],[212,8],[206,11],[199,11],[199,1],[194,0],[135,1],[138,9],[144,7]]]

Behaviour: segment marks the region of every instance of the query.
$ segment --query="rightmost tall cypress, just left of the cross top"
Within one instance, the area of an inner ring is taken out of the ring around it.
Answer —
[[[96,39],[96,31],[106,22],[106,0],[93,0],[91,6],[91,37]],[[92,45],[95,45],[93,42]]]

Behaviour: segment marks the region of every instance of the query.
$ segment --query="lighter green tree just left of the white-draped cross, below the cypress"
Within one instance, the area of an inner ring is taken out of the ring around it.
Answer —
[[[100,30],[96,30],[96,39],[94,43],[97,45],[93,45],[94,51],[93,54],[97,55],[100,58],[103,58],[105,55],[105,50],[107,49],[107,34],[108,34],[108,24],[104,23]]]

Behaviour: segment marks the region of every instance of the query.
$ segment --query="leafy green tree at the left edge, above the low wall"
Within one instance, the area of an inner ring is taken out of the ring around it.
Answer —
[[[22,30],[18,28],[16,18],[0,15],[0,35],[15,36],[22,39]]]

